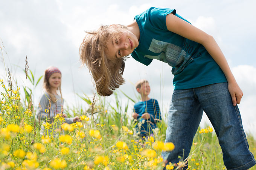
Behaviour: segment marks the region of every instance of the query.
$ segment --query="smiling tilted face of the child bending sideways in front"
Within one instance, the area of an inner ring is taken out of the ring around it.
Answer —
[[[138,47],[139,41],[129,30],[122,30],[120,39],[110,39],[107,42],[106,55],[109,60],[128,56]]]

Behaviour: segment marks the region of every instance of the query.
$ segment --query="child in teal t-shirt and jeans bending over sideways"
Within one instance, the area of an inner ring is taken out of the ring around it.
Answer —
[[[174,92],[165,142],[174,143],[175,149],[162,153],[167,164],[179,162],[178,156],[187,158],[205,111],[227,169],[255,165],[237,106],[243,93],[221,49],[212,36],[192,26],[175,9],[151,7],[127,26],[114,24],[87,32],[79,54],[102,96],[111,95],[124,83],[129,54],[144,65],[157,59],[172,66]]]

